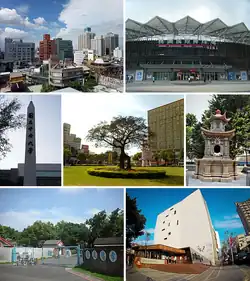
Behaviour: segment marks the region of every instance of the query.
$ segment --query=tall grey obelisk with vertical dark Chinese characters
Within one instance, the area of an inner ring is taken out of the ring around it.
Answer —
[[[30,101],[27,109],[24,186],[36,186],[36,129],[35,106]]]

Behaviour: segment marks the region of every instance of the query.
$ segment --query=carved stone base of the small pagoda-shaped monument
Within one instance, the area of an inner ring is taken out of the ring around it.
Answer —
[[[192,176],[204,182],[232,182],[239,179],[236,161],[223,158],[203,158],[195,161],[196,169]]]

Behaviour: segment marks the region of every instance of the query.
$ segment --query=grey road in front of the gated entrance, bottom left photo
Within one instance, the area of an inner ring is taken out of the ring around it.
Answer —
[[[0,265],[0,281],[84,281],[66,272],[65,268],[52,266]],[[87,281],[87,280],[85,280]]]

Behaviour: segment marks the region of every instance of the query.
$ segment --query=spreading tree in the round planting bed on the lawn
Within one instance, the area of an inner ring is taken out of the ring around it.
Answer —
[[[148,137],[148,127],[145,122],[141,117],[114,117],[110,123],[103,121],[89,130],[87,140],[95,142],[96,147],[120,149],[120,169],[131,169],[130,157],[125,150],[132,146],[140,147]]]

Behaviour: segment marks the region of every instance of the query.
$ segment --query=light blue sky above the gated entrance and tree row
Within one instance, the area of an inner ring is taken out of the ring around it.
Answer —
[[[0,224],[22,231],[35,221],[84,223],[100,211],[123,210],[121,188],[0,189]]]

